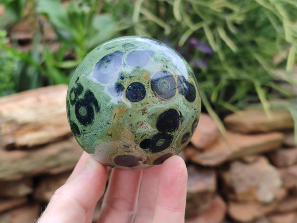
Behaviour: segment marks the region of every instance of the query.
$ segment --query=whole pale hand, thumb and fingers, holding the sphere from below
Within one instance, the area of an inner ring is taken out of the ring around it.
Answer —
[[[92,223],[107,171],[84,152],[38,223]],[[99,223],[184,223],[187,178],[178,156],[142,171],[112,169]]]

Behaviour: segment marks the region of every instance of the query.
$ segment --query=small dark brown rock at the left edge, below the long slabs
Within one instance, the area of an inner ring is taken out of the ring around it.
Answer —
[[[0,182],[1,197],[23,197],[33,192],[33,180],[30,178],[1,181]]]

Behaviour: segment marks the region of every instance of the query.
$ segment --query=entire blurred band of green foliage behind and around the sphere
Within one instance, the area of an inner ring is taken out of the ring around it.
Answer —
[[[189,61],[203,110],[218,123],[258,102],[269,116],[275,98],[284,99],[297,120],[296,95],[286,85],[297,85],[297,0],[6,0],[2,5],[0,96],[68,83],[94,47],[140,35],[164,41]],[[9,30],[30,15],[36,18],[32,50],[21,51]],[[45,42],[42,16],[54,29],[58,51]]]

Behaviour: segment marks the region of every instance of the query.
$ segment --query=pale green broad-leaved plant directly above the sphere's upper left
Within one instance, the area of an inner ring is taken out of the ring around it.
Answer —
[[[67,6],[60,0],[38,1],[37,12],[47,16],[59,40],[67,43],[77,56],[72,64],[61,61],[56,65],[78,65],[89,51],[114,35],[116,23],[109,14],[99,14],[100,4],[97,0],[71,1]]]

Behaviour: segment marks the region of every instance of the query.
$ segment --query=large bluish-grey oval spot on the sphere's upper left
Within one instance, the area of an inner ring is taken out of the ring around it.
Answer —
[[[109,83],[121,68],[122,56],[123,53],[120,51],[103,56],[94,67],[93,77],[100,83]]]

